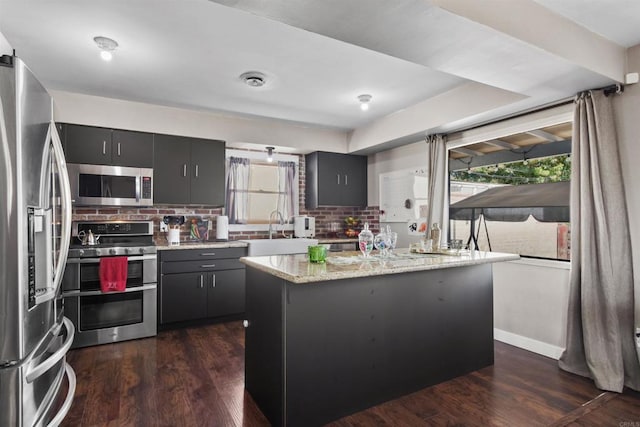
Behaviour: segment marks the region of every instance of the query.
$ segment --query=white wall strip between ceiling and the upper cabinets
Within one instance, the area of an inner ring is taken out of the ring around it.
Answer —
[[[78,93],[50,92],[54,98],[55,120],[59,122],[221,139],[233,148],[264,149],[274,146],[277,152],[286,153],[315,150],[346,153],[347,150],[347,134],[339,130]]]

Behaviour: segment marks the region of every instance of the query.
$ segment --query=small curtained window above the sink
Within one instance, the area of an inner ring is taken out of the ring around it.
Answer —
[[[276,210],[287,223],[298,214],[298,156],[273,157],[267,162],[262,152],[227,150],[226,214],[231,230],[266,230]]]

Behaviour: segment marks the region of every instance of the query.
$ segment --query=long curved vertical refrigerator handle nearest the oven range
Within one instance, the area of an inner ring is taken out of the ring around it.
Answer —
[[[69,185],[69,173],[67,172],[67,162],[64,158],[62,143],[56,124],[51,121],[49,124],[49,133],[51,134],[51,146],[53,147],[53,155],[58,165],[58,176],[60,179],[60,192],[62,204],[62,228],[60,231],[60,251],[58,252],[58,261],[53,275],[53,289],[58,292],[62,283],[62,275],[66,266],[67,255],[69,255],[69,244],[71,239],[71,187]]]

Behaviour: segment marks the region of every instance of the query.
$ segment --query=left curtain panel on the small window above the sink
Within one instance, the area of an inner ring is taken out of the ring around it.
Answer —
[[[230,157],[227,169],[227,194],[225,207],[229,224],[245,224],[249,202],[250,160]]]

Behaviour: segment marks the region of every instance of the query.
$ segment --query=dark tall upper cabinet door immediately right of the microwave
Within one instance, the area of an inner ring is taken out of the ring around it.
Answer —
[[[153,145],[153,202],[188,204],[189,143],[178,136],[154,135]]]

